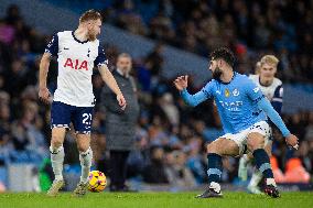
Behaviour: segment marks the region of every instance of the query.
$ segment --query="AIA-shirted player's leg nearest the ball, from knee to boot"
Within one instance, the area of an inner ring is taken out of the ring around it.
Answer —
[[[79,161],[82,166],[80,180],[74,190],[74,196],[84,196],[87,191],[88,175],[93,162],[93,150],[90,149],[90,134],[76,134],[77,149],[79,151]]]

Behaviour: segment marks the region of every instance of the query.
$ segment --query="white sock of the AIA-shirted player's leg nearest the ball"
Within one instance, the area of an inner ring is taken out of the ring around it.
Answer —
[[[79,161],[82,166],[80,182],[86,184],[93,162],[93,150],[89,147],[86,152],[79,152]]]

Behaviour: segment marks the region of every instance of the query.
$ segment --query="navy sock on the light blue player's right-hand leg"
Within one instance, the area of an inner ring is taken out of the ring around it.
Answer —
[[[267,152],[263,149],[258,149],[255,150],[253,156],[256,165],[263,176],[266,178],[273,178],[273,172]]]

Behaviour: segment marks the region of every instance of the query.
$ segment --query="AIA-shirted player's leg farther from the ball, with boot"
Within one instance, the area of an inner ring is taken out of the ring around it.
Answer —
[[[53,128],[52,129],[52,139],[51,139],[51,164],[55,179],[53,180],[52,186],[47,190],[48,196],[56,196],[58,190],[62,189],[65,185],[63,179],[63,162],[64,162],[64,149],[63,142],[65,136],[65,128]]]

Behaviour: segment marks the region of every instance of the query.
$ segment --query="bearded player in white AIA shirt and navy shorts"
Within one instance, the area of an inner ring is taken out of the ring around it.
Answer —
[[[82,165],[80,180],[74,190],[74,195],[83,196],[86,194],[93,160],[93,151],[89,144],[95,106],[91,84],[94,66],[97,66],[102,80],[116,94],[121,109],[126,108],[123,95],[107,67],[108,61],[97,40],[100,29],[100,13],[95,10],[86,11],[79,19],[77,30],[58,32],[53,36],[41,59],[39,97],[45,102],[50,100],[46,77],[51,56],[57,56],[58,63],[57,89],[54,92],[51,109],[52,139],[50,146],[55,179],[47,191],[48,196],[56,196],[58,190],[65,185],[62,174],[64,161],[63,142],[71,122],[76,132]]]

